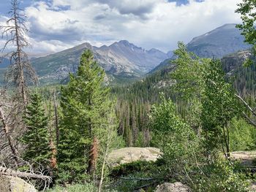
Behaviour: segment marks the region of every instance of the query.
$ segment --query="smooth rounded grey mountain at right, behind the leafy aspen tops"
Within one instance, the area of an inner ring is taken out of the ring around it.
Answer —
[[[249,47],[249,45],[244,43],[244,37],[241,35],[241,31],[236,28],[236,24],[220,26],[213,31],[193,38],[192,41],[187,44],[187,50],[202,58],[222,58],[225,55],[236,53],[239,50],[247,50]],[[173,57],[162,61],[159,66],[150,73],[165,68],[165,66],[170,64],[172,59]]]

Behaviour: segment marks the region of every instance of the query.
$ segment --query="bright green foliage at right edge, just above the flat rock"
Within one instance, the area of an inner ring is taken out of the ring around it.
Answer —
[[[230,129],[230,150],[254,150],[256,130],[244,119],[233,118],[228,124]]]

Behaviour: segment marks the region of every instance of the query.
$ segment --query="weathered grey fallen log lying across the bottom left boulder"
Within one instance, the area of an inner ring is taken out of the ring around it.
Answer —
[[[31,179],[37,179],[37,180],[48,180],[49,183],[51,183],[52,181],[52,178],[47,175],[15,171],[3,166],[0,166],[0,176],[12,176],[12,177],[21,177],[21,178],[31,178]]]

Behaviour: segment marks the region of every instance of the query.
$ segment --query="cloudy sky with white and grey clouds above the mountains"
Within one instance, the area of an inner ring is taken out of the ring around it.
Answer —
[[[110,45],[121,39],[167,52],[225,23],[240,23],[241,0],[20,0],[31,50],[52,53],[89,42]],[[10,0],[1,0],[0,24]],[[3,40],[0,40],[0,46]]]

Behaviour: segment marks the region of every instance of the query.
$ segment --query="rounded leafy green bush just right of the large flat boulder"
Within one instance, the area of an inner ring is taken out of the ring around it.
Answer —
[[[162,150],[167,174],[184,174],[195,160],[195,151],[199,151],[194,131],[176,115],[173,102],[164,96],[162,103],[152,107],[150,118],[152,142]]]

